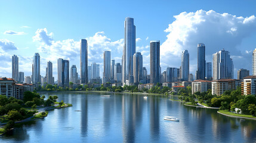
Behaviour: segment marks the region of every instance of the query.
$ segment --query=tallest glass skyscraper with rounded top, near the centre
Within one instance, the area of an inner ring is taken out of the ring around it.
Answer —
[[[126,80],[131,80],[133,74],[133,58],[135,53],[135,26],[133,18],[125,18],[125,39],[124,51],[122,57],[122,82],[125,84]]]

